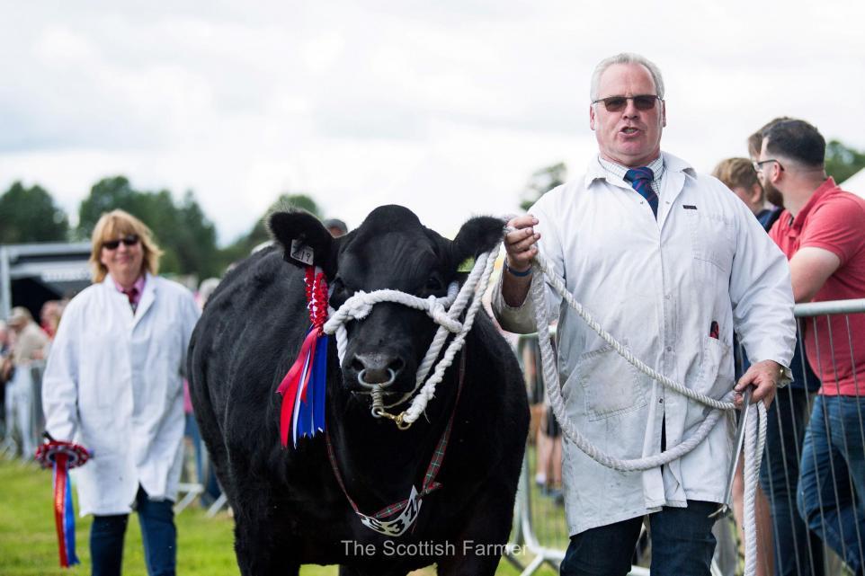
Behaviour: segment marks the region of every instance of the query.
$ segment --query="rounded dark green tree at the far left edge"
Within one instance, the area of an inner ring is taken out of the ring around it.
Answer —
[[[39,184],[14,182],[0,196],[0,244],[66,242],[69,219]]]

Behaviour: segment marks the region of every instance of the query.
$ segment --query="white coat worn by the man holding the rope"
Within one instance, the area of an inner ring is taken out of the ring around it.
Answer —
[[[734,330],[754,362],[789,367],[795,341],[787,259],[745,204],[721,182],[664,154],[658,217],[597,158],[587,173],[541,197],[540,252],[602,327],[655,370],[702,394],[733,385]],[[531,299],[493,309],[505,330],[534,332]],[[558,316],[558,371],[568,417],[618,458],[661,451],[686,439],[705,407],[638,372],[606,345],[552,289]],[[719,337],[709,335],[718,323]],[[729,399],[729,398],[727,398]],[[573,536],[687,500],[720,502],[735,426],[721,418],[690,454],[646,472],[597,464],[565,441],[566,518]]]

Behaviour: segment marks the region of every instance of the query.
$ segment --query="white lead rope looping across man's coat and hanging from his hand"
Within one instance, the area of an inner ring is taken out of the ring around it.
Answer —
[[[736,410],[736,404],[730,402],[733,395],[731,391],[723,399],[718,400],[704,394],[694,392],[677,382],[674,382],[663,374],[655,371],[654,368],[647,366],[646,363],[636,358],[629,350],[626,350],[619,341],[616,341],[610,334],[601,327],[601,324],[594,320],[584,307],[577,302],[570,292],[567,291],[565,282],[559,278],[552,270],[549,270],[546,261],[538,254],[533,259],[532,263],[534,274],[531,279],[531,298],[532,305],[535,309],[535,318],[538,327],[538,341],[540,344],[540,356],[543,364],[544,387],[547,390],[547,397],[553,414],[562,429],[562,433],[567,439],[574,442],[577,448],[580,448],[586,456],[591,457],[595,462],[601,465],[620,470],[623,472],[648,470],[656,466],[664,465],[673,460],[676,460],[696,448],[700,442],[709,435],[722,411]],[[540,272],[540,273],[538,273]],[[651,377],[653,380],[660,382],[662,385],[677,394],[682,394],[691,400],[705,404],[714,410],[709,412],[706,419],[702,421],[700,427],[691,435],[690,438],[682,440],[675,447],[665,450],[661,454],[646,456],[643,458],[634,458],[622,460],[613,456],[606,455],[595,447],[588,439],[576,430],[573,422],[567,418],[565,400],[562,397],[561,386],[554,385],[558,383],[558,373],[556,368],[556,359],[552,346],[549,342],[549,319],[547,312],[547,297],[546,283],[548,283],[556,292],[563,297],[577,315],[579,315],[586,324],[594,332],[596,332],[603,341],[607,342],[613,350],[616,350],[620,356],[629,362],[634,368],[637,368],[643,374]],[[754,497],[757,491],[757,480],[760,471],[760,461],[762,458],[762,450],[766,438],[766,407],[762,402],[757,402],[757,417],[748,418],[745,422],[745,576],[754,576],[756,573],[757,562],[757,535],[754,522]],[[758,430],[759,422],[759,430]],[[726,504],[727,502],[723,502]]]

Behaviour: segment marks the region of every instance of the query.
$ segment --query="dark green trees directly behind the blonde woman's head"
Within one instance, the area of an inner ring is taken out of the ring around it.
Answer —
[[[171,191],[137,191],[125,176],[96,182],[81,203],[77,235],[89,238],[103,213],[120,208],[138,217],[165,251],[159,269],[199,278],[218,276],[224,270],[216,244],[216,227],[205,216],[192,191],[174,201]]]

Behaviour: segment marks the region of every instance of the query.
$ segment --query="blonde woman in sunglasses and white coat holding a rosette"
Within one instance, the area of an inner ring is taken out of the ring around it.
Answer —
[[[199,312],[189,290],[156,276],[161,251],[138,218],[103,214],[92,244],[94,284],[68,304],[43,378],[46,430],[93,453],[72,474],[81,514],[94,514],[94,576],[120,574],[131,510],[147,573],[174,575],[183,375]]]

